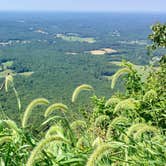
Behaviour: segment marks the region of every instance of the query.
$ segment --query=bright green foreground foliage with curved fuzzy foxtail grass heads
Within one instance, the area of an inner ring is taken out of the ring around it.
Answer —
[[[116,93],[108,100],[91,97],[93,108],[86,116],[80,116],[79,112],[76,112],[78,116],[73,116],[72,111],[67,111],[71,110],[71,105],[54,103],[46,109],[45,119],[38,128],[27,127],[32,110],[38,105],[49,104],[45,98],[37,98],[27,106],[21,126],[5,116],[0,121],[1,165],[164,166],[166,102],[163,65],[165,63],[161,62],[159,71],[149,73],[147,79],[141,80],[133,65],[123,62],[125,70],[115,73],[113,85],[124,71],[129,71],[125,75],[126,91]],[[11,82],[13,79],[7,77],[7,90]],[[93,91],[93,88],[87,84],[77,87],[73,102],[82,90]],[[53,114],[57,109],[62,114]]]

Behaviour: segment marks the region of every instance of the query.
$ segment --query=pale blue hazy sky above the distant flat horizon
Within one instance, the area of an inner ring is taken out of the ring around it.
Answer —
[[[0,11],[166,12],[166,0],[0,0]]]

